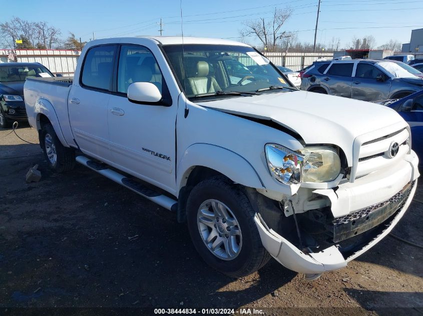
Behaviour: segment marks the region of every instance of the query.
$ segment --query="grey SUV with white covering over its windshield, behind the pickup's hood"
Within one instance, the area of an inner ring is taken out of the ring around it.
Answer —
[[[410,73],[407,67],[390,60],[315,62],[303,74],[301,90],[364,101],[399,99],[423,89],[423,79]]]

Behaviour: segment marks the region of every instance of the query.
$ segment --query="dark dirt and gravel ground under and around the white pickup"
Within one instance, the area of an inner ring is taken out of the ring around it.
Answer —
[[[422,249],[386,237],[347,268],[311,283],[274,260],[246,278],[229,279],[199,258],[175,214],[80,165],[53,174],[38,145],[7,133],[0,130],[0,315],[14,307],[423,314]],[[34,129],[18,134],[38,143]],[[43,178],[27,184],[34,164]],[[417,190],[394,234],[422,244],[423,185]]]

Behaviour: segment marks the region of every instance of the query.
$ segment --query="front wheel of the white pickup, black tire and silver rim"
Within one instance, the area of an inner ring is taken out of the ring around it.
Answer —
[[[195,249],[229,277],[247,276],[270,259],[254,215],[240,187],[221,176],[200,182],[188,196],[188,229]]]

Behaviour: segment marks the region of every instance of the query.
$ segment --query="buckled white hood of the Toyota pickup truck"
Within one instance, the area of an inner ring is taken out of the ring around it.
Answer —
[[[405,121],[392,109],[366,101],[293,91],[201,102],[227,113],[271,119],[306,144],[334,144],[351,152],[354,139]]]

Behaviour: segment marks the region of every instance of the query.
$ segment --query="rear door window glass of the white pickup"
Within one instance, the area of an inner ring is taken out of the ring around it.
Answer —
[[[92,88],[110,90],[113,77],[115,46],[90,48],[82,69],[82,84]]]

